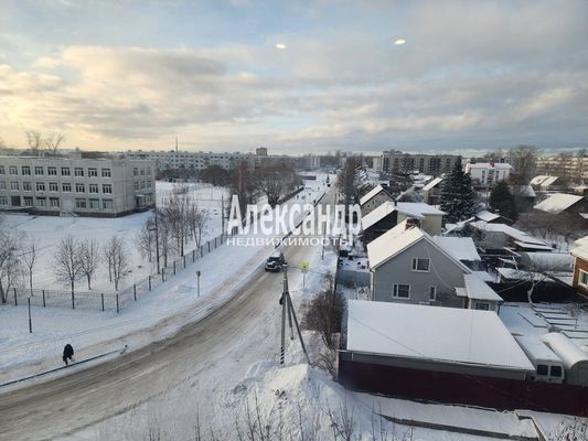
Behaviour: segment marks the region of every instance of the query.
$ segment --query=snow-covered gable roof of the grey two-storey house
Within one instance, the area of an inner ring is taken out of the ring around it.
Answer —
[[[394,256],[411,247],[419,240],[426,240],[431,246],[437,248],[440,252],[452,260],[459,268],[466,273],[470,273],[471,270],[451,256],[448,251],[441,248],[437,243],[424,230],[418,227],[407,228],[406,220],[399,223],[389,232],[384,233],[378,238],[367,244],[367,257],[370,259],[370,268],[375,269],[379,265],[392,259]]]

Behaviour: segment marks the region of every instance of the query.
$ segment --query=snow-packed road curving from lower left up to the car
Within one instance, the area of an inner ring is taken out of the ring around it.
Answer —
[[[295,265],[311,252],[310,247],[285,250]],[[281,273],[260,269],[223,308],[167,340],[0,395],[0,439],[45,440],[74,433],[164,394],[217,363],[233,363],[235,375],[243,375],[244,366],[261,356],[261,347],[267,353],[267,345],[276,345],[281,287]],[[239,361],[232,359],[235,342],[244,347]]]

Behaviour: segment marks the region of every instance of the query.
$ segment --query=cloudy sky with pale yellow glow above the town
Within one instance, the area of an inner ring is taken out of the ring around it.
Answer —
[[[0,0],[0,139],[588,147],[588,2]],[[404,44],[399,40],[403,40]]]

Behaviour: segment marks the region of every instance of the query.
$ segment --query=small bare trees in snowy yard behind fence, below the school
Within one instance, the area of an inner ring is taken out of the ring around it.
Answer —
[[[125,240],[113,236],[101,247],[96,239],[76,239],[65,236],[61,239],[53,260],[53,271],[57,280],[70,284],[72,292],[75,283],[86,279],[88,290],[92,279],[100,263],[108,268],[108,279],[118,290],[119,282],[128,275],[130,268],[129,254]]]

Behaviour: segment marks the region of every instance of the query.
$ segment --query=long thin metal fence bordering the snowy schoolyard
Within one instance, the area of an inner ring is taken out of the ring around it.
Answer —
[[[137,301],[142,295],[159,287],[164,281],[182,271],[197,259],[206,256],[212,250],[223,245],[224,235],[217,236],[197,248],[188,251],[183,256],[169,261],[159,273],[149,275],[136,281],[124,290],[116,292],[81,292],[65,290],[40,290],[28,288],[11,288],[8,292],[7,302],[18,306],[26,304],[31,299],[31,305],[43,308],[71,308],[98,311],[120,312],[124,308]]]

